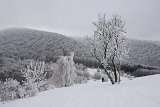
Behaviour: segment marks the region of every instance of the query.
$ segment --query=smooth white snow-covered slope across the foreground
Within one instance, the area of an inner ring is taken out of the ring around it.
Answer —
[[[120,85],[90,80],[1,102],[0,107],[160,107],[160,75],[123,79]]]

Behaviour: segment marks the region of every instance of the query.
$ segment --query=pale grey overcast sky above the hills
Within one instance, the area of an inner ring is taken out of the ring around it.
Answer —
[[[0,29],[27,27],[91,35],[98,13],[118,14],[127,36],[160,41],[160,0],[0,0]]]

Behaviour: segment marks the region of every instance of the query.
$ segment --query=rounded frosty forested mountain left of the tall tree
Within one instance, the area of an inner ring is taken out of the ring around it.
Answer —
[[[0,31],[0,53],[3,56],[44,59],[70,51],[74,51],[76,56],[86,56],[83,44],[58,33],[26,28]]]

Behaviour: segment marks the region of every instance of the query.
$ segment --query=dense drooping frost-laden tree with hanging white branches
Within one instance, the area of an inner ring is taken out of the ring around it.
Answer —
[[[56,87],[68,87],[74,84],[76,68],[73,57],[74,53],[71,52],[70,56],[61,56],[57,61],[58,68],[52,76],[53,84]]]

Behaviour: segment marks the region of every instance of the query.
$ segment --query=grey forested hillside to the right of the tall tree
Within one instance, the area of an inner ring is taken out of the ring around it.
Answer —
[[[160,45],[157,41],[129,40],[129,61],[160,67]]]

